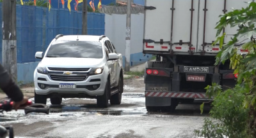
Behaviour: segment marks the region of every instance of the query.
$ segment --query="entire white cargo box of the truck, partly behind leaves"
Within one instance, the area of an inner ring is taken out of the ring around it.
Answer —
[[[204,11],[205,3],[207,9],[206,14]],[[144,39],[152,39],[155,43],[144,42],[144,53],[166,54],[170,53],[169,50],[173,50],[174,55],[188,55],[189,50],[191,50],[194,55],[200,55],[204,50],[204,55],[216,55],[216,53],[220,52],[220,47],[218,45],[212,46],[211,43],[216,40],[217,30],[214,28],[216,27],[216,23],[220,20],[219,16],[224,13],[223,10],[227,10],[228,12],[232,11],[232,8],[246,8],[248,3],[245,3],[243,0],[145,0],[145,6],[153,6],[156,9],[145,10]],[[173,10],[173,30],[172,7],[175,8],[175,10]],[[192,12],[193,16],[191,16],[192,7],[194,9]],[[230,34],[235,34],[237,29],[238,27],[232,29],[230,29],[230,27],[225,28],[226,34],[229,35],[225,38],[224,43],[230,41],[232,37]],[[191,48],[189,48],[188,44],[177,44],[180,40],[182,40],[183,43],[190,42],[190,36],[191,45],[193,45]],[[163,39],[165,42],[163,45],[159,43],[160,39]],[[239,40],[237,44],[245,43],[246,41],[243,40],[244,39]],[[168,41],[173,43],[172,48],[167,43]],[[203,43],[207,43],[205,48],[202,46]],[[241,45],[237,46],[237,48],[237,53],[247,53],[241,50]]]

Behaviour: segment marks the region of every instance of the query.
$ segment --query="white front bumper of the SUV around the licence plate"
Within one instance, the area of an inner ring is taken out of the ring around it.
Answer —
[[[103,72],[102,74],[88,76],[84,81],[54,81],[49,75],[40,74],[35,71],[35,93],[39,95],[51,95],[51,93],[61,95],[76,95],[81,93],[92,96],[103,95],[107,79]],[[60,83],[72,83],[76,85],[76,88],[59,88]],[[96,85],[97,88],[93,89],[93,85]]]

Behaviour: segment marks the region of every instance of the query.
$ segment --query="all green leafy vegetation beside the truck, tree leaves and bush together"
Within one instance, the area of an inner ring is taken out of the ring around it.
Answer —
[[[233,10],[220,15],[216,24],[216,43],[221,52],[216,56],[216,65],[230,60],[230,69],[238,73],[237,85],[223,92],[218,84],[207,86],[207,96],[214,97],[210,117],[205,118],[201,129],[195,130],[200,137],[256,137],[256,3],[248,3],[247,8]],[[232,40],[223,43],[227,34],[225,27],[239,27]],[[246,40],[246,41],[245,41]],[[246,43],[244,43],[244,41]],[[237,54],[235,44],[244,43],[247,55]],[[204,104],[200,106],[204,111]]]

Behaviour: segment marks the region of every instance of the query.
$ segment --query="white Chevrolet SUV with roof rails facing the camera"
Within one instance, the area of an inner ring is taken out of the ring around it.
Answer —
[[[59,34],[35,69],[35,103],[61,104],[62,98],[97,99],[99,107],[120,104],[124,76],[122,54],[106,36]]]

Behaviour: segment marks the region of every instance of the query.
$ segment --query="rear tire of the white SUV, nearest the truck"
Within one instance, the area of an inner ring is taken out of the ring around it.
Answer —
[[[123,79],[120,76],[119,77],[119,82],[118,82],[118,93],[115,93],[110,97],[110,104],[112,105],[120,105],[122,101],[122,93],[123,93]]]

